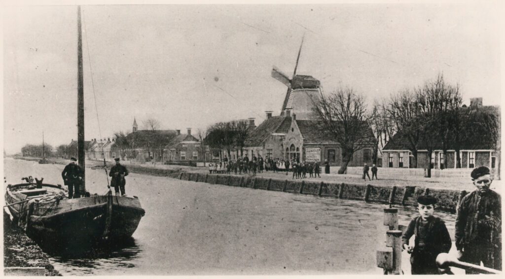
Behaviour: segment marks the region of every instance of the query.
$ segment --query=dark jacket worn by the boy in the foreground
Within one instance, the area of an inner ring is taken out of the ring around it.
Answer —
[[[424,251],[436,257],[440,253],[448,253],[452,242],[445,223],[438,217],[430,217],[428,219],[428,231],[426,236],[419,236],[419,224],[421,216],[414,218],[407,227],[407,230],[401,236],[402,244],[408,244],[412,235],[416,235],[414,249],[419,246],[419,239],[426,239]]]

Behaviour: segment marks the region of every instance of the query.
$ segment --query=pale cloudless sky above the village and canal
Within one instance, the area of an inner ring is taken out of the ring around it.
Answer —
[[[82,6],[85,140],[139,128],[209,125],[280,113],[291,77],[368,103],[443,74],[465,103],[501,102],[498,2]],[[77,6],[3,13],[3,145],[77,139]],[[95,102],[96,101],[96,102]],[[99,124],[98,124],[99,121]]]

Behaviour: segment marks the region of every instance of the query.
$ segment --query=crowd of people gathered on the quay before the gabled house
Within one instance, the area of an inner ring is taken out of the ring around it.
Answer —
[[[283,160],[279,158],[271,158],[267,156],[265,159],[261,155],[254,156],[249,159],[247,155],[239,157],[237,160],[228,160],[225,156],[222,161],[209,163],[210,173],[226,173],[226,174],[247,174],[256,175],[264,171],[284,172],[288,175],[293,173],[293,179],[309,177],[321,177],[321,167],[319,162],[299,162],[299,160]]]

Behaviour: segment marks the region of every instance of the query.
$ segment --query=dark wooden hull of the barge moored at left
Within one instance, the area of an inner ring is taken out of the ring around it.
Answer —
[[[15,202],[9,192],[6,201]],[[53,202],[30,200],[9,206],[26,234],[42,247],[89,248],[96,243],[130,238],[145,214],[138,198],[107,195],[61,199]]]

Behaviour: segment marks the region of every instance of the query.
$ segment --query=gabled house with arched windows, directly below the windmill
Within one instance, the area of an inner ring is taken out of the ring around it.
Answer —
[[[283,141],[284,158],[306,162],[324,162],[328,160],[331,166],[342,164],[340,144],[331,133],[324,131],[322,122],[318,120],[300,120],[293,114],[291,126]],[[368,125],[367,125],[368,126]],[[364,132],[373,138],[372,130]],[[352,156],[348,166],[363,166],[372,164],[373,141],[364,149],[358,150]]]

